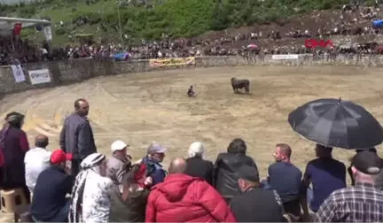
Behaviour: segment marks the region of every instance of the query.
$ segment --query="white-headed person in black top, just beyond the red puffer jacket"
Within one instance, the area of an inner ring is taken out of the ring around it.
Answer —
[[[213,163],[204,160],[205,145],[202,142],[192,142],[186,159],[185,174],[205,179],[210,185],[213,183]]]

